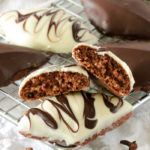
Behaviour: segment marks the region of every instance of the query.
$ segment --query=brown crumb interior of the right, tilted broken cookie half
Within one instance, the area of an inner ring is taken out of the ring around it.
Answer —
[[[124,68],[109,55],[98,55],[96,51],[88,46],[80,46],[74,49],[74,57],[114,94],[127,95],[130,92],[130,79]]]

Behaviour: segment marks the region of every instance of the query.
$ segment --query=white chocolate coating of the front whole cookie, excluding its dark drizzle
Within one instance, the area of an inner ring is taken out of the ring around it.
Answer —
[[[48,125],[46,125],[46,123],[40,116],[29,113],[30,121],[29,118],[24,115],[18,125],[18,130],[20,132],[23,132],[24,134],[31,134],[32,136],[37,137],[45,137],[48,141],[65,140],[67,145],[71,145],[76,142],[82,143],[84,140],[92,137],[92,135],[99,133],[102,129],[111,127],[112,123],[122,118],[124,115],[132,112],[132,106],[126,101],[123,101],[123,105],[118,109],[116,113],[112,113],[110,109],[106,106],[101,94],[94,94],[92,95],[92,97],[95,99],[93,103],[95,115],[88,119],[97,120],[97,123],[91,129],[85,126],[84,110],[85,103],[87,101],[84,100],[83,95],[78,92],[68,94],[66,95],[66,98],[68,100],[72,113],[76,117],[79,124],[77,124],[77,122],[74,121],[67,113],[62,111],[62,109],[57,107],[64,120],[76,132],[72,132],[68,128],[64,121],[59,117],[56,107],[54,107],[54,105],[52,105],[52,103],[48,100],[44,100],[43,103],[38,106],[38,108],[42,111],[48,112],[57,122],[58,128],[50,128]],[[49,99],[62,105],[56,99],[56,97],[52,97]],[[115,105],[116,103],[118,103],[118,98],[113,97],[111,102]],[[92,104],[90,104],[90,106],[92,107]],[[67,109],[68,107],[65,108]]]

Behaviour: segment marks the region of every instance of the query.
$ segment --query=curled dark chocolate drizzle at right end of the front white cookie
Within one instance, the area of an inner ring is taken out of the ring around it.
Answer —
[[[109,110],[112,112],[112,113],[116,113],[120,107],[122,107],[123,105],[123,101],[118,98],[118,103],[116,105],[114,105],[111,100],[114,98],[114,96],[107,96],[107,95],[104,95],[102,94],[103,96],[103,100],[104,100],[104,103],[105,105],[109,108]]]

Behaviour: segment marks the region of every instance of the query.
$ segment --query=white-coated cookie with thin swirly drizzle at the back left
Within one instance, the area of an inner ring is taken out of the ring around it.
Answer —
[[[3,13],[0,29],[13,44],[54,53],[71,53],[77,43],[98,41],[77,18],[53,7]]]

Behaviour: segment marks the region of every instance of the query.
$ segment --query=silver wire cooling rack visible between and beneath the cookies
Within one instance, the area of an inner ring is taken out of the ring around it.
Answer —
[[[148,1],[147,1],[148,2]],[[99,37],[100,43],[104,42],[120,42],[119,39],[103,36],[102,34],[98,33],[96,29],[89,23],[84,11],[83,7],[80,4],[80,0],[58,0],[55,4],[55,7],[62,8],[66,10],[68,13],[76,16],[84,24],[86,24],[93,33]],[[74,60],[71,56],[68,55],[54,55],[51,57],[48,65],[65,65],[65,64],[72,64]],[[18,96],[18,89],[21,80],[16,81],[15,83],[10,84],[7,87],[0,88],[0,115],[8,119],[9,121],[13,122],[17,125],[18,121],[22,117],[23,113],[31,108],[36,107],[40,104],[40,100],[38,101],[22,101]],[[148,101],[150,99],[149,93],[144,91],[136,91],[131,93],[129,96],[124,98],[128,102],[130,102],[134,109],[140,106],[142,103]]]

